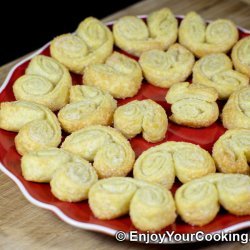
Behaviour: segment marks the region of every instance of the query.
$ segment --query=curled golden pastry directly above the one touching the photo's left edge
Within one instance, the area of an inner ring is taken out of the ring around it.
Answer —
[[[43,104],[55,111],[68,103],[71,84],[71,76],[63,65],[38,55],[31,60],[25,75],[15,81],[13,92],[17,100]]]

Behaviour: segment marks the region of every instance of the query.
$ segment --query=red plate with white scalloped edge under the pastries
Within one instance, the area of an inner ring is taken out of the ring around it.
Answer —
[[[145,16],[141,16],[141,18],[145,18]],[[112,26],[112,23],[109,23],[109,25]],[[250,31],[245,29],[239,28],[239,31],[240,37],[250,35]],[[43,48],[13,67],[0,88],[0,102],[15,100],[12,85],[17,78],[24,74],[30,59],[37,54],[50,55],[49,44],[46,44]],[[81,83],[80,75],[72,74],[72,77],[74,84]],[[134,99],[142,100],[150,98],[162,105],[167,113],[170,114],[170,106],[165,101],[165,95],[165,89],[143,82],[139,93],[135,97],[119,100],[118,104],[121,105]],[[224,132],[225,128],[223,128],[220,121],[217,121],[208,128],[202,129],[183,127],[170,122],[164,141],[192,142],[211,152],[214,142]],[[110,235],[114,235],[117,230],[124,232],[136,230],[129,216],[108,221],[98,220],[93,216],[87,201],[79,203],[62,202],[51,194],[49,184],[25,181],[21,175],[20,155],[17,153],[14,145],[15,136],[16,133],[0,129],[0,169],[18,185],[21,192],[31,203],[49,209],[65,222],[83,229],[99,231]],[[131,140],[131,145],[138,156],[149,147],[155,146],[156,143],[148,143],[141,136],[137,136]],[[173,191],[177,185],[176,183]],[[237,231],[247,227],[250,227],[250,216],[237,217],[221,209],[216,218],[203,227],[190,226],[178,218],[173,225],[165,228],[162,232],[168,230],[175,231],[175,233],[194,233],[202,230],[205,233],[215,233],[220,231]]]

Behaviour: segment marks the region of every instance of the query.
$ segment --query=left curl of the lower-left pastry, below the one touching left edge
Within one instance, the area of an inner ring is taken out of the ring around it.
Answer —
[[[57,169],[72,162],[85,160],[59,148],[31,151],[21,158],[22,175],[27,181],[48,183]]]

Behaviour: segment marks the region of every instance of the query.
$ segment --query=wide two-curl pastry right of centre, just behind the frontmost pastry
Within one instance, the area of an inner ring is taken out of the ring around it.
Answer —
[[[144,151],[136,160],[134,178],[158,183],[170,189],[175,176],[182,183],[215,172],[211,155],[198,145],[165,142]]]

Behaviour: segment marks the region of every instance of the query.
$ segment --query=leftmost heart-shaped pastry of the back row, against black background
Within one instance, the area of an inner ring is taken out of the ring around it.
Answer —
[[[96,18],[83,20],[75,34],[64,34],[53,39],[52,57],[70,71],[83,74],[93,63],[103,63],[113,50],[113,35],[109,28]]]

